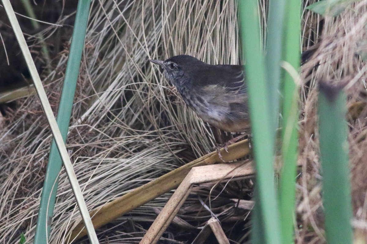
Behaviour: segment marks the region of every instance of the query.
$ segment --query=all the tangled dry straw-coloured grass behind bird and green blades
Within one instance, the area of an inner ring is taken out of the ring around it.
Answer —
[[[366,70],[356,55],[366,49],[362,41],[366,40],[366,6],[366,0],[355,3],[336,18],[322,18],[309,11],[303,14],[302,45],[308,48],[319,43],[321,48],[303,72],[306,76],[312,70],[301,91],[298,244],[324,243],[315,84],[319,79],[346,82],[350,84],[350,104],[366,99]],[[262,9],[265,13],[265,7]],[[236,12],[234,0],[94,1],[67,140],[88,209],[124,195],[228,140],[231,135],[209,127],[186,109],[148,60],[185,53],[213,64],[240,63]],[[67,51],[60,53],[54,60],[54,71],[44,76],[55,112],[66,56]],[[363,230],[367,212],[366,111],[349,120],[349,128],[353,223]],[[36,97],[19,100],[17,109],[8,111],[0,128],[0,141],[0,243],[18,243],[21,233],[31,243],[51,142]],[[210,193],[210,186],[197,186],[179,212],[179,221],[164,238],[172,243],[192,240],[197,227],[215,214],[233,243],[248,243],[248,211],[236,209],[236,199],[251,199],[252,181],[228,184],[225,191],[222,188],[219,185]],[[210,194],[211,204],[207,198]],[[138,243],[155,218],[155,209],[163,207],[169,196],[164,194],[99,229],[100,243]],[[209,205],[210,210],[206,209]],[[64,243],[78,217],[62,170],[50,243]]]

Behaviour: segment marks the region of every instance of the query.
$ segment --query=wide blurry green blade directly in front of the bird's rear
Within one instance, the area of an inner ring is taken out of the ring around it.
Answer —
[[[257,1],[239,1],[239,16],[246,60],[248,103],[250,108],[252,144],[257,171],[257,189],[262,213],[265,241],[280,244],[280,220],[277,196],[273,184],[274,133],[267,97],[265,61],[260,48]],[[259,216],[255,216],[259,217]]]

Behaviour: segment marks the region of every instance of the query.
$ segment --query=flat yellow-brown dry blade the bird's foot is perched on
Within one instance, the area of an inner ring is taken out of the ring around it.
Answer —
[[[126,195],[116,198],[112,202],[106,203],[97,209],[92,210],[90,215],[92,217],[93,225],[95,228],[105,225],[110,221],[120,217],[121,215],[129,213],[137,207],[142,206],[150,200],[153,200],[158,196],[177,188],[193,167],[222,163],[222,160],[230,162],[246,157],[250,153],[248,140],[243,140],[230,145],[228,147],[228,152],[226,152],[224,149],[221,149],[220,152],[222,159],[219,158],[218,152],[214,151],[175,170],[172,170],[171,172],[164,174],[163,176],[160,176],[157,179],[152,180],[131,192],[128,192]],[[73,226],[72,228],[72,233],[70,234],[71,240],[79,239],[80,237],[87,234],[82,220],[80,219],[78,222],[79,224],[77,226]]]

